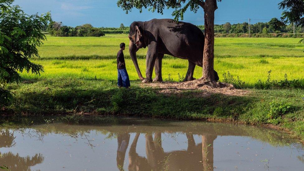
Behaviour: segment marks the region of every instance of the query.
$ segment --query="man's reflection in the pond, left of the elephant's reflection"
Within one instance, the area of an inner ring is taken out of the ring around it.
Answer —
[[[129,145],[130,134],[128,133],[118,133],[117,135],[117,156],[116,156],[116,163],[117,168],[122,170],[126,151]]]

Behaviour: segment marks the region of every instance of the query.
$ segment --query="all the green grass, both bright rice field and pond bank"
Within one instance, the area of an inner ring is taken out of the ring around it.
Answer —
[[[216,38],[215,69],[220,79],[228,71],[252,88],[259,79],[304,80],[303,44],[295,38]],[[11,104],[0,107],[0,113],[21,115],[110,114],[171,119],[235,121],[246,124],[272,124],[289,129],[304,140],[303,89],[250,89],[242,97],[212,94],[197,97],[197,91],[183,91],[166,96],[156,89],[140,88],[129,53],[125,51],[131,90],[116,88],[116,53],[121,42],[128,44],[127,35],[105,37],[51,37],[39,47],[41,58],[31,59],[42,64],[41,76],[21,73],[20,84],[10,84]],[[128,48],[128,47],[126,47]],[[145,73],[145,53],[138,51],[139,65]],[[180,81],[188,61],[165,56],[163,78]],[[179,74],[178,74],[179,73]],[[196,67],[194,77],[202,75]],[[198,91],[199,92],[199,91]],[[13,118],[14,118],[13,117]],[[66,117],[78,122],[78,117]],[[1,121],[6,123],[7,121]],[[8,121],[9,122],[9,121]]]

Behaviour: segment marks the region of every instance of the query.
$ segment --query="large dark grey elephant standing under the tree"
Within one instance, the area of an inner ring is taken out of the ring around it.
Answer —
[[[154,82],[163,81],[161,74],[164,54],[187,59],[188,71],[184,81],[192,81],[196,65],[202,67],[204,40],[202,31],[187,22],[175,22],[171,19],[153,19],[150,21],[134,21],[130,26],[129,51],[135,69],[142,83],[152,82],[153,67],[156,77]],[[136,52],[148,47],[146,55],[146,78],[143,78],[138,67]],[[215,72],[215,79],[219,80]]]

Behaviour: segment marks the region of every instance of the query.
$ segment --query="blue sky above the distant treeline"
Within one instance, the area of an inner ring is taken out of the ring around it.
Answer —
[[[218,3],[215,24],[242,23],[252,18],[252,23],[265,22],[273,17],[280,18],[282,10],[278,3],[282,0],[223,0]],[[39,14],[51,11],[54,21],[62,21],[67,26],[78,26],[90,23],[95,27],[119,27],[120,23],[129,26],[133,21],[148,21],[153,18],[174,18],[172,9],[164,10],[164,15],[157,12],[143,13],[133,9],[126,14],[117,7],[116,0],[15,0],[27,14]],[[184,21],[195,25],[203,24],[203,10],[197,13],[187,11]]]

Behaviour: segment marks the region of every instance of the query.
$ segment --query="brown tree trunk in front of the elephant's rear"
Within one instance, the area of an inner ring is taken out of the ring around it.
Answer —
[[[205,45],[203,58],[203,80],[214,82],[214,13],[217,9],[216,0],[205,0]]]

